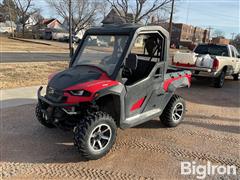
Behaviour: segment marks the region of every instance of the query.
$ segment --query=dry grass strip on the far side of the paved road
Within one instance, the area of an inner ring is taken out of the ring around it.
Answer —
[[[51,45],[37,44],[34,42],[23,42],[0,36],[0,52],[15,52],[15,51],[68,52],[67,43],[43,40],[41,42],[49,43]]]

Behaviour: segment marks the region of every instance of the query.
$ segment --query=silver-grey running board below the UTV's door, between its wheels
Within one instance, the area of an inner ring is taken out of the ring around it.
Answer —
[[[156,118],[161,115],[161,109],[153,109],[147,112],[143,112],[141,114],[137,114],[133,117],[127,118],[125,121],[121,123],[121,128],[129,128],[133,126],[137,126],[139,124],[142,124],[144,122],[147,122],[149,120],[152,120],[153,118]]]

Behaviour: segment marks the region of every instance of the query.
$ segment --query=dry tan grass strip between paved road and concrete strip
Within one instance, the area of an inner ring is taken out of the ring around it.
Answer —
[[[48,76],[68,67],[66,61],[1,63],[0,89],[47,84]]]

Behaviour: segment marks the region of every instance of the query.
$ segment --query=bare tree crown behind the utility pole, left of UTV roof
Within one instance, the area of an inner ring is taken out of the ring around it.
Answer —
[[[68,21],[69,0],[46,0],[55,9],[56,13]],[[72,2],[73,30],[78,32],[93,24],[99,6],[98,0],[74,0]]]

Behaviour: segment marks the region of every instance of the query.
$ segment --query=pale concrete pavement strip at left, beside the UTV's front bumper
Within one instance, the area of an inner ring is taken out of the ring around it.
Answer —
[[[39,87],[31,86],[0,90],[0,109],[35,103]],[[45,93],[44,91],[45,88],[43,88],[43,93]]]

